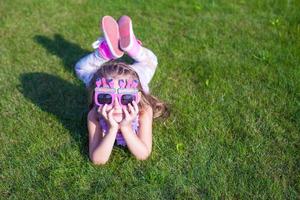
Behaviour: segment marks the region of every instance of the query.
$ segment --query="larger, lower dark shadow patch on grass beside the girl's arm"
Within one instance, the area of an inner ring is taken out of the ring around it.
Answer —
[[[46,73],[25,73],[20,80],[23,95],[43,111],[56,116],[70,131],[83,156],[87,156],[85,89]]]

